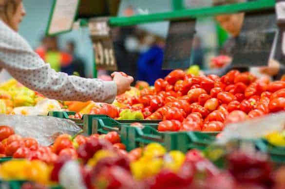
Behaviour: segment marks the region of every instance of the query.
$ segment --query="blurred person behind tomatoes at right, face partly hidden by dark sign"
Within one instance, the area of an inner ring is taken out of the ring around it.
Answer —
[[[251,0],[213,0],[213,5],[218,6],[218,5],[231,4],[231,3],[242,3],[246,1],[251,1]],[[224,62],[222,62],[223,67],[219,69],[217,69],[217,67],[215,67],[215,64],[211,62],[212,67],[215,69],[204,71],[204,74],[206,75],[216,74],[216,75],[222,76],[232,69],[236,69],[241,72],[252,70],[256,72],[255,74],[258,74],[260,76],[266,75],[266,76],[273,77],[273,79],[280,79],[281,76],[285,73],[285,67],[284,65],[280,64],[279,62],[273,59],[269,60],[268,66],[260,67],[260,68],[255,68],[255,67],[251,69],[249,69],[249,67],[235,68],[231,65],[231,62],[232,62],[231,57],[233,56],[235,40],[242,29],[244,17],[245,17],[244,13],[218,15],[215,17],[216,21],[230,35],[230,38],[228,38],[228,40],[224,44],[224,47],[221,50],[221,54],[227,55],[229,58],[221,58],[222,61]]]

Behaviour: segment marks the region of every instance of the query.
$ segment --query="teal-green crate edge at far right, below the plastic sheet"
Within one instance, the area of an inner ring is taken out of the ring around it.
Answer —
[[[266,152],[272,161],[276,163],[285,163],[285,147],[273,146],[265,139],[256,140],[255,144],[257,149]]]

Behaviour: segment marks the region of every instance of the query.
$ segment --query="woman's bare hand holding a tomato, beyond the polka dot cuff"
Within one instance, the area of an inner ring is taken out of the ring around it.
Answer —
[[[131,83],[133,82],[132,76],[128,76],[123,72],[114,72],[111,76],[117,85],[117,95],[121,95],[126,91],[131,90]]]

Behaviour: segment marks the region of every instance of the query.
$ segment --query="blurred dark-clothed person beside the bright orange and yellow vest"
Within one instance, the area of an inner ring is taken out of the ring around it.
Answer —
[[[86,77],[85,75],[85,62],[76,55],[76,44],[74,41],[68,41],[66,43],[66,52],[72,55],[71,69],[72,72],[77,72],[79,76]]]

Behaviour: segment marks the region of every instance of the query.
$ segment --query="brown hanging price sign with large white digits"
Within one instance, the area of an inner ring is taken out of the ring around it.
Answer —
[[[117,70],[108,18],[91,19],[89,29],[97,69]]]

